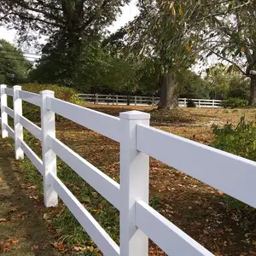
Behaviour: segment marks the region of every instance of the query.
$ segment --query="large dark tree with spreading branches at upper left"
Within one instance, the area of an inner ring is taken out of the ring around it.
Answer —
[[[42,53],[49,72],[72,84],[79,57],[88,42],[101,38],[129,0],[3,0],[0,25],[15,28],[20,42],[48,37]]]

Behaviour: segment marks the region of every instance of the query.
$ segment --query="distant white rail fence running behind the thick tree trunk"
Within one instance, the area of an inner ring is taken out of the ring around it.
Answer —
[[[127,105],[128,97],[108,94],[79,94],[79,99],[84,102],[106,105]],[[160,98],[154,96],[129,96],[132,106],[156,106]],[[196,108],[221,108],[221,100],[191,99]],[[179,98],[178,107],[187,107],[189,99]]]

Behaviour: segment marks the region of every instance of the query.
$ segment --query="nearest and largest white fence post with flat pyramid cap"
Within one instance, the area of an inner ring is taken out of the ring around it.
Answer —
[[[136,125],[149,125],[150,114],[120,113],[120,256],[148,256],[148,237],[135,224],[135,202],[148,203],[149,157],[137,151]]]

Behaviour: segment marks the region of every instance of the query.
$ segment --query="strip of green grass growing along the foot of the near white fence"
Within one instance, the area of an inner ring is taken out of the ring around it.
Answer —
[[[41,158],[41,145],[26,130],[24,130],[24,140]],[[40,200],[43,201],[43,177],[27,157],[25,157],[25,160],[20,161],[20,168],[24,173],[26,182],[37,186],[38,195]],[[102,225],[102,228],[108,232],[108,235],[119,244],[119,211],[59,158],[57,158],[57,172],[61,181],[66,184],[67,188],[72,191],[73,195],[84,205],[85,209],[96,218],[99,224]],[[96,248],[96,245],[73,216],[73,213],[64,206],[61,200],[59,205],[64,207],[61,214],[57,214],[55,211],[49,214],[58,239],[64,241],[68,249],[72,249],[73,246],[84,248],[93,246]],[[79,253],[84,252],[73,253],[79,255]],[[86,255],[99,255],[99,253],[97,250],[90,252],[88,249]]]

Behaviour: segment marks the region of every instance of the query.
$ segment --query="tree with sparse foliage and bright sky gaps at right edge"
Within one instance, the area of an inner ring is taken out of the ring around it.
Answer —
[[[256,104],[256,1],[221,1],[204,21],[204,53],[217,55],[251,79],[249,105]],[[205,58],[205,55],[203,55]]]

